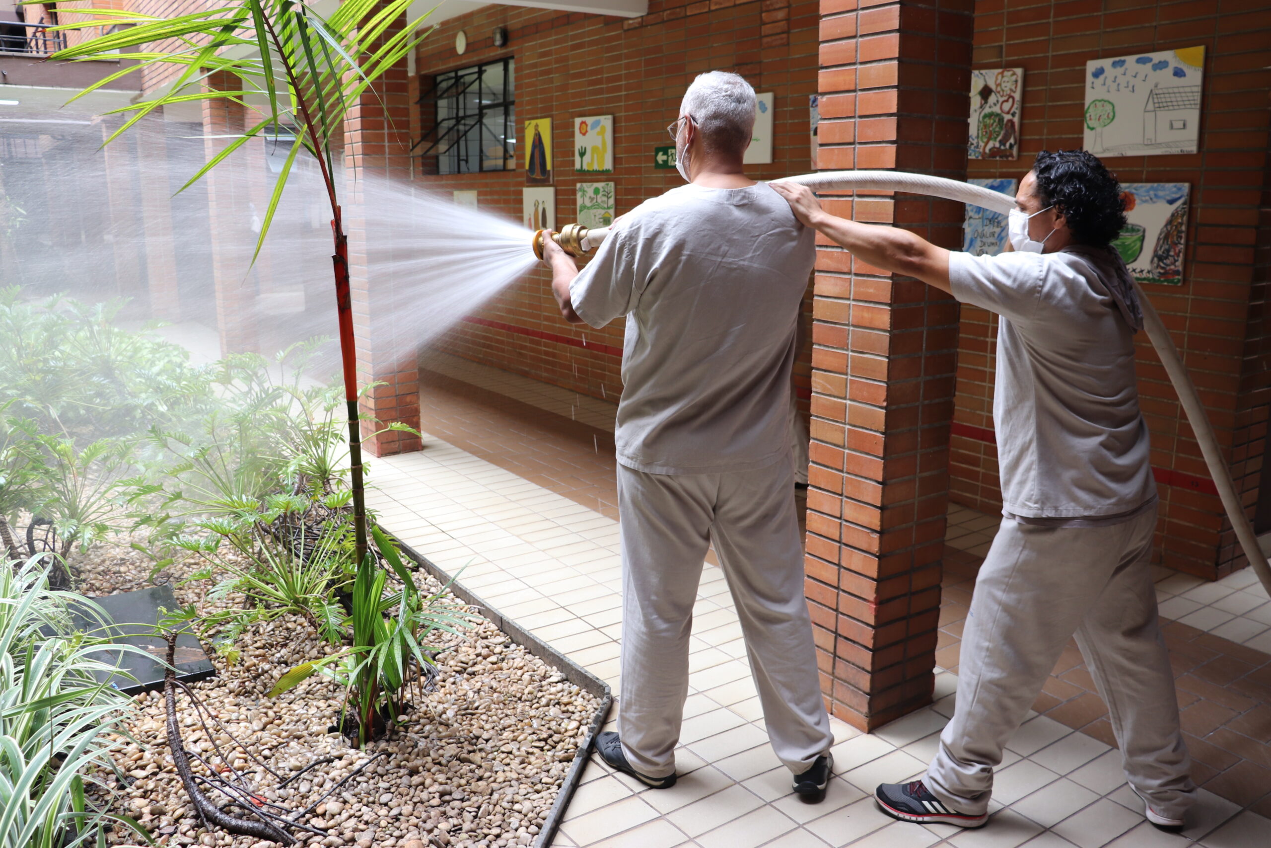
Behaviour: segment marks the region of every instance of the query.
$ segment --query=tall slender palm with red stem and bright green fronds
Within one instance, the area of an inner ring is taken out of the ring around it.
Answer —
[[[362,487],[362,450],[357,412],[357,370],[353,342],[352,295],[348,277],[348,239],[344,233],[337,191],[333,140],[344,118],[362,103],[376,79],[402,61],[428,32],[395,29],[412,0],[344,0],[328,17],[296,0],[230,0],[187,15],[158,18],[117,9],[93,9],[103,27],[118,27],[52,55],[55,61],[114,58],[121,50],[137,61],[105,76],[80,95],[109,85],[140,67],[172,65],[179,70],[175,83],[163,94],[117,112],[132,114],[105,141],[109,144],[155,109],[177,103],[230,99],[247,106],[247,98],[264,97],[266,106],[253,109],[254,123],[230,141],[186,183],[200,179],[250,139],[273,135],[295,136],[266,210],[261,245],[269,230],[287,175],[301,149],[318,164],[327,188],[334,238],[336,306],[339,314],[339,346],[348,408],[348,453],[353,492],[353,523],[358,561],[366,556],[366,507]],[[53,27],[83,28],[84,24]],[[158,51],[159,43],[175,41],[179,47]],[[231,78],[238,88],[214,88],[208,78]],[[183,187],[184,188],[184,187]]]

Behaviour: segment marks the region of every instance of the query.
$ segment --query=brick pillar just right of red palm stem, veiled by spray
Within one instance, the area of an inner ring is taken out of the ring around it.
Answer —
[[[398,20],[383,38],[404,24]],[[364,436],[400,421],[419,426],[418,343],[411,324],[399,320],[408,310],[407,291],[391,276],[393,245],[377,235],[376,215],[400,215],[400,209],[365,209],[365,181],[411,181],[411,97],[407,60],[389,69],[344,121],[344,224],[348,230],[353,325],[357,337],[358,384],[383,383],[362,399]],[[376,425],[375,421],[381,422]],[[422,448],[408,432],[389,431],[369,439],[376,456]]]

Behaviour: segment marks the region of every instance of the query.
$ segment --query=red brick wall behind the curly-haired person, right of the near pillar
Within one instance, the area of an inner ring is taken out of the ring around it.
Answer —
[[[1251,286],[1267,164],[1271,13],[1257,0],[979,0],[975,9],[975,67],[1024,67],[1024,97],[1021,158],[970,160],[967,175],[972,178],[1018,178],[1038,150],[1082,146],[1082,80],[1088,60],[1205,46],[1201,151],[1118,156],[1107,164],[1122,182],[1191,183],[1185,282],[1146,289],[1200,385],[1219,439],[1232,451],[1237,484],[1252,506],[1267,402],[1266,328],[1260,323],[1261,305],[1251,311]],[[1262,281],[1258,291],[1265,292],[1265,271]],[[1265,294],[1254,297],[1265,301]],[[986,313],[962,308],[953,500],[986,511],[1002,503],[995,450],[984,441],[993,428],[994,333]],[[1145,334],[1138,348],[1158,479],[1207,482],[1191,428]],[[1244,564],[1216,495],[1162,484],[1160,500],[1160,562],[1206,577]]]

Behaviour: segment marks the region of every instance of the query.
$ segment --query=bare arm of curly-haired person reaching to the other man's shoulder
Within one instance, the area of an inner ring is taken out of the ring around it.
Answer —
[[[895,226],[857,224],[830,215],[806,186],[782,182],[769,184],[789,202],[794,216],[805,226],[813,228],[846,248],[858,259],[949,292],[949,252],[944,248]]]

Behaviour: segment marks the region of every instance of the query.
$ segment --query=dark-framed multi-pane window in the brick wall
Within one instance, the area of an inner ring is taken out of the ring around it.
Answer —
[[[433,78],[436,125],[423,155],[437,158],[437,173],[516,169],[512,67],[508,57]]]

